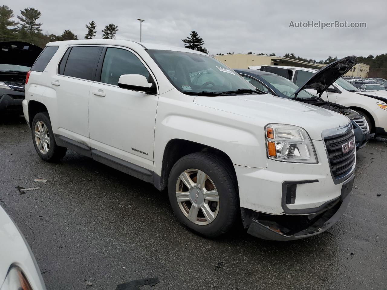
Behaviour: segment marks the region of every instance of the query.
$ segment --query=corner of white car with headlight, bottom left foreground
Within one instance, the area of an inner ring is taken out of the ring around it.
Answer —
[[[45,289],[45,283],[27,241],[0,206],[0,290]]]

